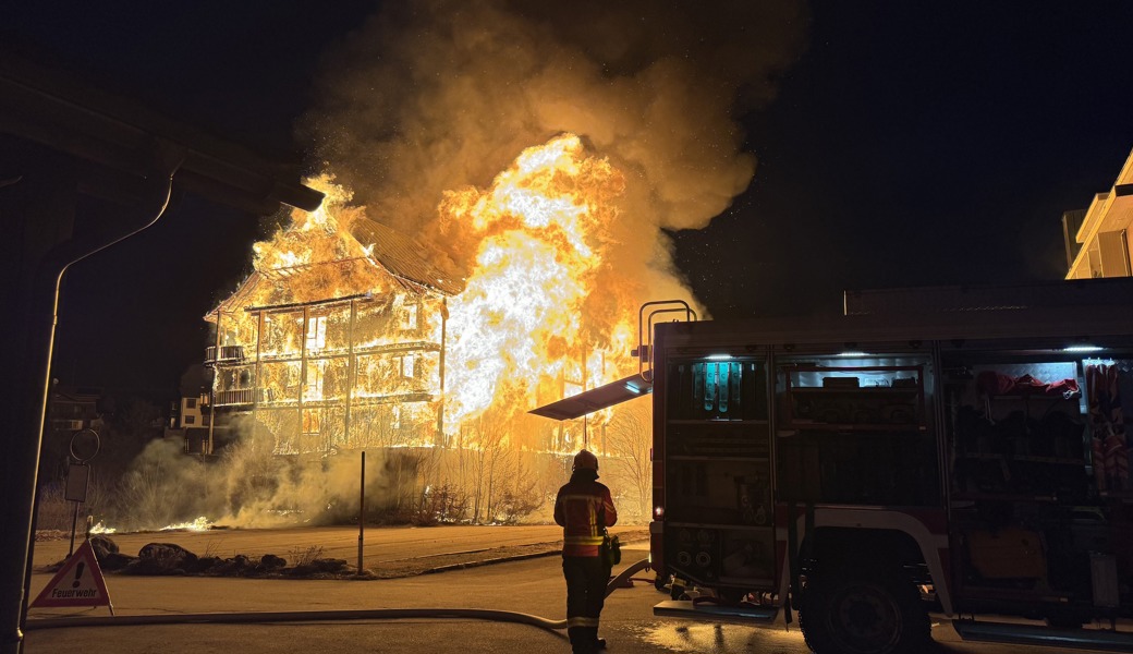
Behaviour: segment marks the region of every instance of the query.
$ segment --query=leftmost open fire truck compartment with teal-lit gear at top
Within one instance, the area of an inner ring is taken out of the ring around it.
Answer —
[[[736,595],[769,589],[775,563],[766,364],[704,357],[673,362],[666,375],[668,564],[681,578]]]

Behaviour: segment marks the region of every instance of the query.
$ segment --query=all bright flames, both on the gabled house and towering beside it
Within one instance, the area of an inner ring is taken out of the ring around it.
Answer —
[[[220,316],[221,345],[255,353],[242,379],[258,387],[248,389],[257,393],[256,401],[304,407],[299,421],[281,419],[273,431],[333,432],[325,423],[343,411],[332,408],[349,398],[394,407],[383,419],[399,433],[408,421],[438,430],[445,439],[485,411],[496,424],[513,425],[540,402],[636,370],[629,351],[641,289],[630,288],[632,272],[602,288],[613,270],[612,226],[625,179],[607,159],[587,153],[579,137],[566,134],[526,150],[487,189],[444,194],[431,232],[443,240],[434,244],[437,250],[465,265],[463,290],[452,297],[390,275],[376,261],[374,245],[359,243],[351,231],[358,221],[381,222],[381,216],[349,206],[349,189],[329,176],[309,182],[326,192],[323,206],[293,212],[289,227],[257,243],[258,281],[246,282],[238,299],[229,300],[228,314],[214,314]],[[327,300],[360,296],[386,299],[366,309],[326,308]],[[287,309],[320,303],[323,308],[315,312]],[[272,309],[257,314],[249,307]],[[441,315],[446,320],[435,317]],[[406,345],[407,339],[412,342]],[[398,350],[402,346],[407,351]],[[347,350],[349,357],[340,356]],[[240,387],[239,373],[229,374],[227,382],[219,377],[218,389]],[[425,410],[429,402],[441,409]],[[320,440],[320,447],[374,444],[352,439],[349,427],[341,432]],[[565,451],[576,445],[570,434],[536,443],[511,432],[503,440],[522,448]],[[295,434],[276,433],[276,439],[290,442]],[[387,439],[381,444],[431,441]],[[276,449],[317,448],[291,443]]]

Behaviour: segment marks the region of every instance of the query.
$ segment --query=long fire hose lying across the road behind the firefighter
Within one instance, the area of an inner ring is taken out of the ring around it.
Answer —
[[[622,570],[606,584],[606,597],[617,588],[631,585],[631,577],[649,568],[642,559]],[[518,611],[496,609],[353,609],[340,611],[249,611],[238,613],[178,613],[174,615],[108,615],[100,618],[42,618],[28,620],[26,630],[59,629],[67,627],[137,627],[145,625],[201,625],[252,622],[315,622],[321,620],[406,620],[415,618],[472,619],[493,622],[530,625],[557,632],[566,628],[566,620],[551,620]]]

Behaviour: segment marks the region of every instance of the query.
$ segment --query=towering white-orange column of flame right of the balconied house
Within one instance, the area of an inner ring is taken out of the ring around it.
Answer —
[[[531,408],[540,382],[563,380],[572,394],[625,367],[630,316],[599,324],[583,311],[599,290],[623,186],[608,161],[565,135],[523,152],[487,190],[446,194],[442,215],[476,245],[467,288],[450,304],[450,428],[493,404]]]

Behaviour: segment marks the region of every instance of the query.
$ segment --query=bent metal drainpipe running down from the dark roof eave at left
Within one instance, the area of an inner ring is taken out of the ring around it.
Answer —
[[[9,458],[9,470],[12,479],[6,484],[12,495],[6,498],[10,507],[12,523],[5,529],[6,536],[0,540],[7,554],[0,558],[3,578],[23,577],[18,591],[11,593],[7,588],[0,597],[0,620],[3,621],[3,632],[0,634],[0,654],[19,654],[23,652],[24,629],[27,620],[28,594],[32,581],[32,560],[35,541],[35,510],[39,484],[40,449],[43,444],[43,431],[46,424],[48,398],[51,385],[51,360],[54,354],[56,325],[59,317],[59,294],[67,270],[112,245],[129,238],[151,227],[165,213],[172,193],[173,175],[180,169],[186,152],[169,143],[159,144],[155,153],[157,168],[162,172],[146,179],[146,209],[139,221],[131,222],[121,231],[104,236],[100,240],[68,239],[52,247],[39,262],[32,275],[32,290],[27,294],[27,347],[29,370],[40,370],[40,375],[27,392],[18,400],[27,399],[34,407],[34,416],[29,426],[34,427],[28,442],[14,445],[6,452]],[[37,356],[40,353],[42,355]],[[18,478],[16,478],[18,477]]]

